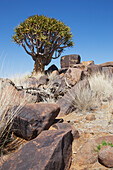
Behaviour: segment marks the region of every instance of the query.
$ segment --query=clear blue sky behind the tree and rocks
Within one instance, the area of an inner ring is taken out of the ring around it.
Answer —
[[[113,0],[1,0],[0,77],[33,70],[31,56],[11,37],[14,27],[34,14],[56,18],[71,28],[74,47],[61,56],[79,54],[82,61],[96,64],[113,61]],[[60,58],[51,64],[60,68]]]

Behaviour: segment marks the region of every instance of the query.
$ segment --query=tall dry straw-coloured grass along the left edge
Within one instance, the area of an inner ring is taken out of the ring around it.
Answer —
[[[21,97],[15,88],[3,88],[0,83],[0,155],[4,146],[11,139],[10,130],[15,116],[26,104],[26,97]]]

